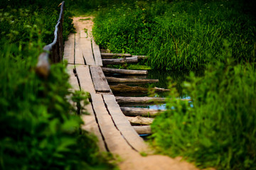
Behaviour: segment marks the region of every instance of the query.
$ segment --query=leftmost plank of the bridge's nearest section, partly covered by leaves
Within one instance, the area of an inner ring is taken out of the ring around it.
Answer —
[[[98,143],[97,145],[100,148],[101,152],[107,152],[107,149],[105,148],[105,142],[102,138],[102,134],[100,133],[99,126],[96,122],[95,119],[95,114],[92,110],[92,104],[89,103],[85,106],[86,110],[90,115],[82,115],[81,118],[83,122],[85,123],[84,125],[81,126],[82,130],[87,130],[88,132],[92,132],[97,136]]]

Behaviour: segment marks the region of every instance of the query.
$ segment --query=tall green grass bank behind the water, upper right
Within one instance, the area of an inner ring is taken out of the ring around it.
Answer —
[[[235,62],[255,62],[256,28],[242,1],[129,1],[98,8],[93,35],[112,52],[149,55],[158,69],[201,69],[221,60],[224,39]]]

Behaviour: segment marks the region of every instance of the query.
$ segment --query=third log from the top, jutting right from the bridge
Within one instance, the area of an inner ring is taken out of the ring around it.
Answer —
[[[146,75],[147,70],[132,70],[132,69],[111,69],[102,67],[103,72],[112,74],[132,74],[132,75]]]

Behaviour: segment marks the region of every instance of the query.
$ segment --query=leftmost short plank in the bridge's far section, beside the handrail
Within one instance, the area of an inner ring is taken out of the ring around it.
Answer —
[[[75,63],[75,34],[68,35],[68,40],[65,41],[63,59],[68,61],[68,64]]]

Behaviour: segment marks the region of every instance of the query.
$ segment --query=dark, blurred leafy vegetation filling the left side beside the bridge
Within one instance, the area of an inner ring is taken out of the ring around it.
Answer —
[[[59,7],[52,1],[0,2],[0,169],[113,169],[98,152],[96,137],[68,102],[85,94],[68,91],[65,65],[52,64],[48,79],[35,66],[53,41]],[[73,30],[65,11],[63,36]]]

